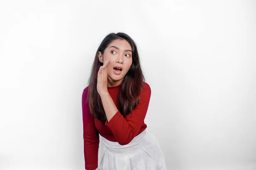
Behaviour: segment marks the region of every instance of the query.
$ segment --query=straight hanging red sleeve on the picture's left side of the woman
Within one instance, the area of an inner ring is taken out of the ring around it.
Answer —
[[[99,131],[94,124],[94,118],[86,103],[88,87],[82,94],[82,113],[84,131],[84,161],[86,170],[95,170],[98,167]]]

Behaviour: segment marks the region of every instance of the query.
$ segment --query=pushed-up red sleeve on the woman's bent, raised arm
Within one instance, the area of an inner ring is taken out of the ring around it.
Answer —
[[[130,114],[124,118],[121,113],[117,111],[109,122],[108,120],[106,121],[105,125],[111,130],[119,144],[128,144],[137,136],[144,123],[150,96],[151,88],[145,83],[142,94],[140,95],[140,102]]]

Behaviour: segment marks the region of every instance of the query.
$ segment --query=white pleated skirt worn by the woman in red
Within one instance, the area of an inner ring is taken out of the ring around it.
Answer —
[[[97,170],[167,170],[157,139],[145,129],[125,145],[102,137],[102,156]]]

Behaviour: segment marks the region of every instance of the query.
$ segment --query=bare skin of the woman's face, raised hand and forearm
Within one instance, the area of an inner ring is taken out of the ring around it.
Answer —
[[[119,48],[119,50],[111,46],[115,46]],[[118,111],[113,99],[108,93],[108,87],[120,85],[125,74],[130,69],[132,64],[132,52],[127,50],[131,50],[131,45],[126,40],[114,40],[105,49],[103,55],[100,52],[98,54],[99,61],[103,62],[104,60],[105,63],[98,71],[97,91],[102,99],[108,122]],[[122,73],[119,75],[113,72],[113,68],[116,65],[122,66]]]

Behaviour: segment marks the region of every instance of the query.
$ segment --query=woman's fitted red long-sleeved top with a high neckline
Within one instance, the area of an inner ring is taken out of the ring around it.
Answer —
[[[108,87],[108,92],[117,106],[117,97],[120,85]],[[148,110],[148,104],[151,96],[151,88],[145,83],[140,96],[140,102],[125,118],[119,111],[105,125],[91,116],[89,107],[86,103],[88,87],[82,94],[82,112],[84,127],[84,160],[86,170],[95,170],[98,167],[99,134],[104,138],[118,142],[121,145],[128,144],[139,135],[147,125],[144,119]]]

